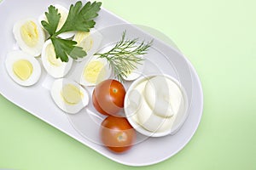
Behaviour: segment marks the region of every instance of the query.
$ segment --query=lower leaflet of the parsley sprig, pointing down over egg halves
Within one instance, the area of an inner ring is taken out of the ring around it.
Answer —
[[[67,55],[71,56],[73,59],[83,58],[86,55],[83,48],[75,46],[77,42],[74,42],[73,40],[52,37],[51,41],[55,47],[55,54],[57,59],[61,58],[62,62],[68,61]]]

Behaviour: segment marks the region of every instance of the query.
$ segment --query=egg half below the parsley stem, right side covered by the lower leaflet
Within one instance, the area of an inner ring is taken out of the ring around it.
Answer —
[[[41,58],[44,69],[54,78],[65,77],[73,65],[72,58],[69,58],[67,62],[62,62],[60,58],[56,58],[55,48],[51,40],[44,43]]]

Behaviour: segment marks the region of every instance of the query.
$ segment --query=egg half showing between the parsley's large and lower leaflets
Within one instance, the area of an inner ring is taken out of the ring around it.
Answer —
[[[86,58],[90,58],[93,54],[96,54],[102,43],[102,34],[96,29],[90,29],[90,32],[78,31],[73,37],[73,41],[78,42],[78,46],[83,48],[87,53]],[[83,58],[85,59],[85,58]],[[83,59],[77,59],[81,61]]]

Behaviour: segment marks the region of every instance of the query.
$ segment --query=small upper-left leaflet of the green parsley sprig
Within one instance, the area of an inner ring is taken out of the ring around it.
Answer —
[[[42,20],[41,23],[42,26],[44,26],[44,29],[48,31],[49,35],[53,36],[61,19],[61,14],[59,14],[58,9],[52,5],[49,6],[48,11],[48,13],[45,12],[45,16],[48,22]]]

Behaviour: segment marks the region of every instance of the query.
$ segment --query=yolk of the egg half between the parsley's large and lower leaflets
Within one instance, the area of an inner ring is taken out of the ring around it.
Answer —
[[[93,40],[90,37],[90,32],[79,31],[75,37],[74,41],[78,42],[79,46],[84,49],[84,51],[89,51],[93,45]]]

